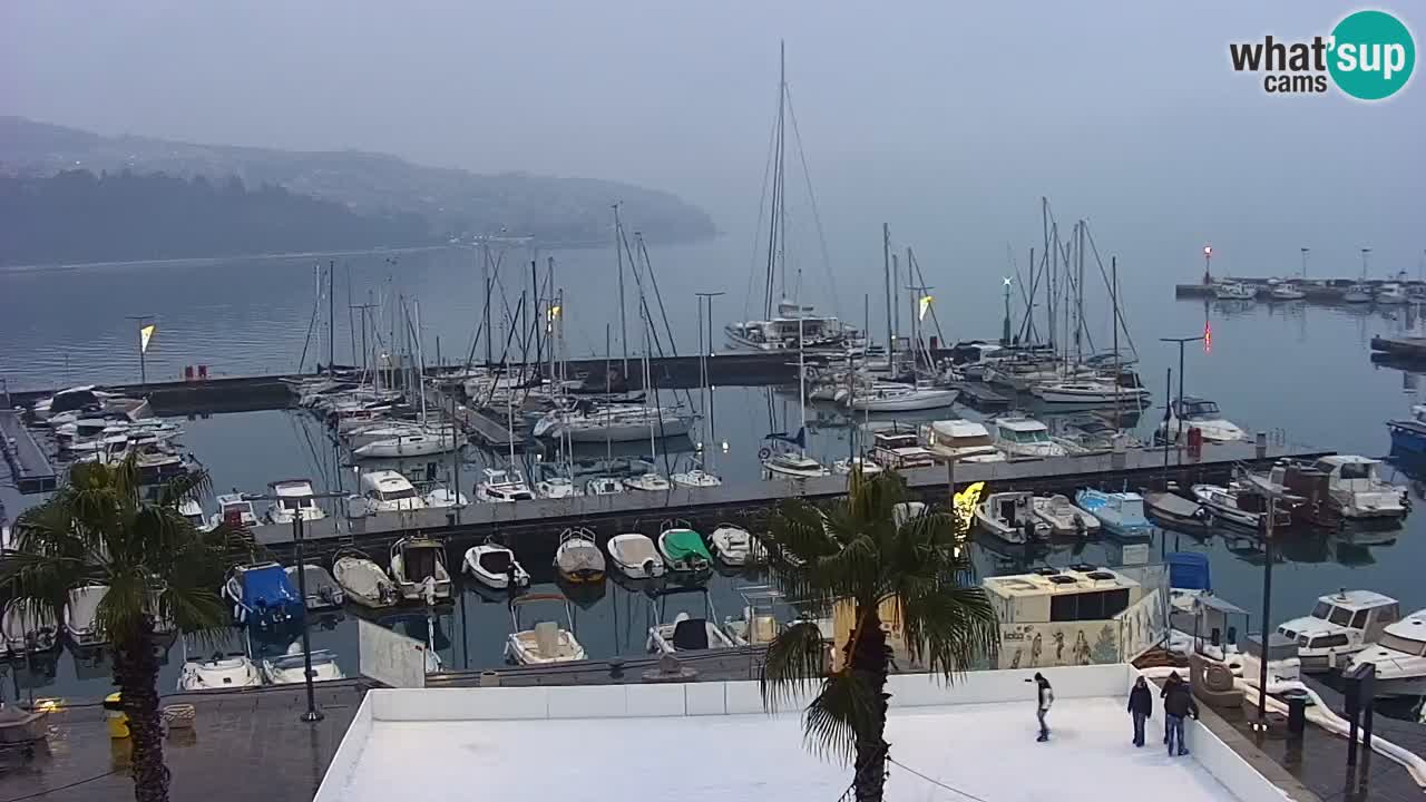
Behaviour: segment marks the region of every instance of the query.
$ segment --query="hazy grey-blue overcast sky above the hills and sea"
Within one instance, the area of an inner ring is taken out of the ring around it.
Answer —
[[[1228,43],[1355,6],[945,1],[4,3],[0,114],[104,134],[359,148],[670,190],[752,231],[779,40],[827,228],[1002,264],[1040,197],[1189,281],[1417,270],[1426,86],[1271,97]],[[1426,30],[1426,10],[1397,9]],[[1420,34],[1417,34],[1420,40]],[[790,178],[803,181],[799,171]],[[807,204],[794,194],[793,204]],[[806,205],[803,207],[806,208]],[[843,247],[836,234],[834,248]]]

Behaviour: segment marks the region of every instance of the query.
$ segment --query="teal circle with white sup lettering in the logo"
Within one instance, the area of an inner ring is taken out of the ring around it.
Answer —
[[[1356,11],[1332,29],[1328,71],[1338,88],[1358,100],[1400,91],[1416,66],[1412,31],[1386,11]]]

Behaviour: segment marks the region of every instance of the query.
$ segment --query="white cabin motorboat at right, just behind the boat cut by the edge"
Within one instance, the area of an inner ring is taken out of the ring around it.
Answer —
[[[1302,671],[1332,671],[1378,642],[1395,624],[1400,604],[1375,591],[1339,591],[1318,597],[1312,615],[1283,621],[1278,632],[1298,644]]]

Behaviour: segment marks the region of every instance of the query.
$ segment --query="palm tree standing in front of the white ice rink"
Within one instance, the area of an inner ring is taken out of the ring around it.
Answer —
[[[767,548],[771,574],[791,599],[850,604],[854,624],[843,665],[829,671],[811,621],[786,628],[767,646],[763,705],[773,711],[817,689],[803,714],[814,752],[850,762],[858,802],[878,802],[886,785],[887,674],[891,648],[883,609],[898,609],[907,658],[947,682],[994,655],[1000,625],[974,581],[961,518],[906,505],[906,482],[891,471],[851,475],[846,498],[826,505],[783,502]]]

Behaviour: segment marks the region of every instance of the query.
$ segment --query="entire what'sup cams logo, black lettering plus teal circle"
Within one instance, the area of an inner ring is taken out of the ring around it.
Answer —
[[[1310,41],[1232,43],[1228,56],[1238,73],[1263,73],[1269,94],[1322,94],[1329,78],[1348,97],[1385,100],[1412,77],[1412,31],[1386,11],[1356,11]]]

